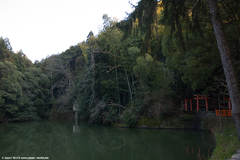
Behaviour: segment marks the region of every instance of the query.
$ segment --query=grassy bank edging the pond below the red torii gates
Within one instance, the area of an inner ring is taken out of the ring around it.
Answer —
[[[157,124],[157,125],[156,125]],[[114,123],[113,126],[128,128],[124,123]],[[179,117],[149,118],[140,117],[136,129],[169,129],[207,131],[214,135],[216,148],[210,160],[231,159],[239,148],[235,123],[232,117],[216,117],[202,115],[183,115]]]

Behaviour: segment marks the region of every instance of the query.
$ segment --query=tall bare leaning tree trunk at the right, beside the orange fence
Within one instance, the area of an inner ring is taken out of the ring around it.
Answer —
[[[240,91],[237,75],[234,71],[231,52],[223,28],[222,19],[218,9],[217,0],[208,0],[211,21],[220,51],[224,74],[227,80],[228,93],[232,102],[232,116],[235,121],[238,138],[240,141]]]

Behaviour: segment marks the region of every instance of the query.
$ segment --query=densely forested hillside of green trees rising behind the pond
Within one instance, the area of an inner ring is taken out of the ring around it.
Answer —
[[[0,120],[49,118],[72,110],[90,122],[158,117],[195,93],[228,94],[205,0],[141,0],[123,21],[103,15],[86,41],[34,64],[0,39]],[[239,79],[240,2],[218,7]],[[238,106],[239,107],[239,106]]]

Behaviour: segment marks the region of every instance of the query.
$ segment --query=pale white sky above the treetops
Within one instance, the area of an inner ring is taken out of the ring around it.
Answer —
[[[123,20],[139,0],[0,0],[0,37],[34,63],[102,29],[102,16]]]

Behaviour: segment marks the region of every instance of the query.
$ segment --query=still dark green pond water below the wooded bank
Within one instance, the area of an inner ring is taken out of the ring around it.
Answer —
[[[209,132],[114,128],[79,122],[0,125],[0,159],[190,160],[209,157]]]

